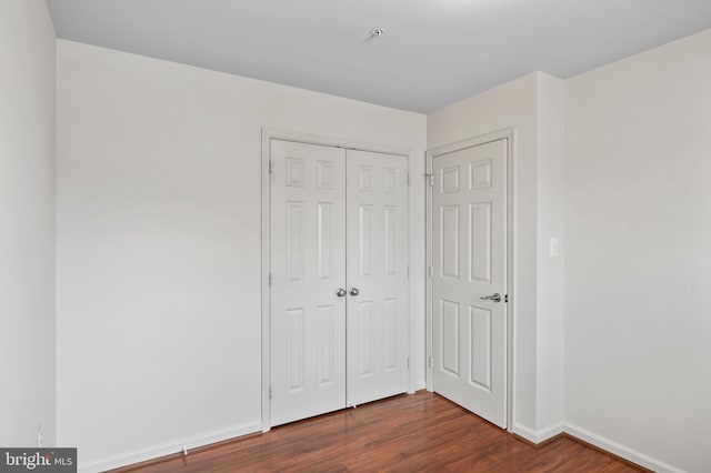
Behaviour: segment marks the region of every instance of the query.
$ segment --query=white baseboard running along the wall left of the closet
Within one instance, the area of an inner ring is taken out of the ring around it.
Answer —
[[[118,469],[119,466],[131,465],[133,463],[146,462],[148,460],[159,459],[161,456],[179,453],[182,452],[183,446],[188,451],[190,451],[191,449],[209,445],[211,443],[222,442],[224,440],[234,439],[241,435],[261,432],[261,422],[237,425],[227,430],[183,439],[182,441],[173,441],[170,444],[112,456],[110,459],[100,460],[87,465],[82,465],[80,462],[77,470],[81,473],[103,472],[111,469]],[[81,452],[79,452],[79,456],[81,457]]]

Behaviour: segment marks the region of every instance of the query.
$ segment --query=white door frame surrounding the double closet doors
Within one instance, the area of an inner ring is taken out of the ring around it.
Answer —
[[[349,140],[343,138],[332,138],[310,133],[301,133],[297,131],[279,130],[272,128],[262,128],[262,150],[261,150],[261,240],[262,240],[262,266],[261,266],[261,325],[262,325],[262,371],[261,371],[261,404],[262,404],[262,432],[268,432],[271,429],[271,400],[269,397],[269,389],[271,381],[271,291],[269,285],[269,272],[271,268],[271,179],[269,172],[269,161],[271,158],[271,141],[293,141],[304,144],[318,144],[323,147],[342,148],[347,150],[370,151],[377,153],[395,154],[407,158],[408,160],[408,175],[412,173],[414,169],[415,153],[412,149],[402,147],[392,147],[387,144],[369,143],[357,140]],[[412,368],[412,360],[414,360],[414,324],[412,323],[412,312],[415,305],[414,301],[414,278],[412,276],[412,262],[417,261],[413,250],[415,248],[414,242],[414,215],[413,215],[413,193],[414,187],[411,184],[408,189],[408,258],[410,261],[410,276],[409,276],[409,313],[408,313],[408,356],[409,356],[409,380],[408,380],[408,393],[414,392],[414,370]]]

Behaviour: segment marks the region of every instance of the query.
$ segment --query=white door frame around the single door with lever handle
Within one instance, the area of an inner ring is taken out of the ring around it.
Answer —
[[[499,131],[494,131],[487,134],[481,134],[473,138],[468,138],[462,141],[457,141],[450,144],[444,144],[438,148],[433,148],[428,150],[425,153],[425,172],[427,179],[430,179],[432,175],[432,160],[437,157],[449,154],[465,148],[472,148],[480,144],[490,143],[492,141],[498,140],[507,140],[507,294],[509,296],[509,302],[505,304],[505,349],[504,349],[504,369],[505,373],[503,376],[504,380],[504,424],[507,425],[507,431],[513,432],[513,419],[514,419],[514,405],[515,405],[515,391],[513,389],[514,383],[514,320],[515,320],[515,296],[514,296],[514,278],[513,270],[515,268],[515,252],[514,252],[514,223],[515,223],[515,213],[514,213],[514,140],[515,140],[515,129],[509,128]],[[425,243],[424,246],[427,249],[425,255],[425,264],[427,264],[427,289],[425,289],[425,360],[427,366],[424,370],[427,390],[433,392],[432,385],[432,366],[430,365],[430,360],[433,360],[433,341],[432,341],[432,311],[433,311],[433,300],[432,300],[432,283],[433,278],[430,276],[430,268],[432,268],[432,185],[425,185],[427,190],[427,203],[425,203],[425,221],[427,221],[427,234],[425,234]]]

